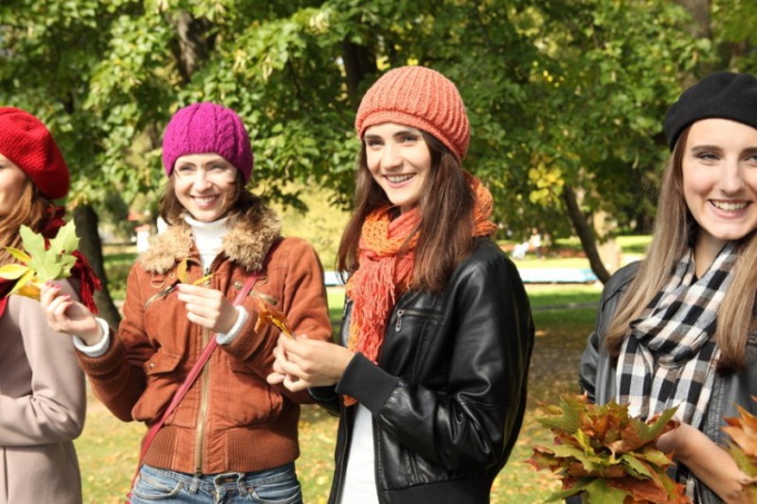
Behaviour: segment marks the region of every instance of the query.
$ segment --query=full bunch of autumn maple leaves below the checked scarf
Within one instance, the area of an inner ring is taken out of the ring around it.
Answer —
[[[588,504],[690,503],[666,474],[672,459],[655,447],[676,426],[676,408],[646,423],[630,417],[628,405],[594,405],[586,395],[566,394],[558,405],[540,407],[547,415],[537,421],[554,433],[554,445],[533,447],[528,462],[562,482],[547,502],[578,495]]]

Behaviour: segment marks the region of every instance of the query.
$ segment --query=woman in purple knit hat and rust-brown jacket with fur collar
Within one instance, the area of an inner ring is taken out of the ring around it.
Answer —
[[[53,288],[49,324],[75,336],[106,406],[150,427],[131,503],[301,503],[298,404],[312,398],[266,383],[279,329],[262,315],[331,338],[318,257],[245,188],[253,152],[233,110],[178,110],[163,161],[168,229],[129,274],[118,332]]]

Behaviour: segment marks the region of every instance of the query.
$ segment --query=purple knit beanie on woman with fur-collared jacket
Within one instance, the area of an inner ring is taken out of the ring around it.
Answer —
[[[253,147],[239,116],[220,105],[201,102],[174,113],[163,136],[163,166],[170,176],[176,159],[214,152],[234,165],[245,184],[253,175]]]

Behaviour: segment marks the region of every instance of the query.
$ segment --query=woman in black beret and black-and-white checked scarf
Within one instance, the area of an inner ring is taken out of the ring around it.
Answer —
[[[676,477],[695,503],[748,502],[724,417],[757,414],[757,79],[718,72],[666,113],[671,157],[645,260],[604,287],[580,364],[591,401],[677,406]]]

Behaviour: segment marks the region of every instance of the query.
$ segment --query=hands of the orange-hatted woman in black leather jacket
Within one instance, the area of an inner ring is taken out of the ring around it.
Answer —
[[[294,339],[281,336],[274,355],[274,373],[268,375],[268,383],[299,392],[336,384],[355,354],[343,346],[306,336]]]

